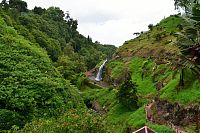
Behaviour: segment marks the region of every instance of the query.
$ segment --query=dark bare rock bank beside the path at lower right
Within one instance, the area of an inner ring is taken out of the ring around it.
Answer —
[[[197,116],[200,113],[200,104],[190,107],[181,107],[178,103],[167,101],[156,101],[157,111],[161,117],[177,126],[185,126],[197,123]]]

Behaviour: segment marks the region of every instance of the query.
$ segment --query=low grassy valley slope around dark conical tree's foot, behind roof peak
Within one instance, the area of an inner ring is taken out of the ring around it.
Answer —
[[[103,115],[103,122],[109,128],[110,132],[121,133],[126,132],[127,128],[131,131],[139,129],[144,125],[149,125],[158,132],[172,133],[172,131],[164,125],[155,125],[146,122],[144,107],[141,106],[135,111],[130,111],[121,105],[116,97],[116,89],[91,89],[88,88],[82,92],[85,100],[97,100],[102,107],[106,108],[107,113]]]

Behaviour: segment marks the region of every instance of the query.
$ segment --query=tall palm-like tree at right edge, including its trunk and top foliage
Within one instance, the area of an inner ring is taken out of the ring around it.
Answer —
[[[180,49],[177,57],[171,59],[175,71],[180,73],[177,92],[184,87],[185,70],[191,69],[196,75],[200,75],[200,5],[192,0],[175,0],[176,9],[184,8],[186,16],[182,16],[185,25],[182,31],[176,33],[176,45]]]

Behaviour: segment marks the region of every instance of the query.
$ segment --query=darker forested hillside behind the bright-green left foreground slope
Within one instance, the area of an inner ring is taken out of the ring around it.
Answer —
[[[12,5],[7,6],[9,8]],[[6,10],[6,7],[3,6],[0,12],[6,24],[14,27],[25,39],[45,49],[49,58],[58,62],[55,65],[65,78],[92,69],[100,61],[110,58],[116,50],[113,45],[94,43],[90,36],[81,35],[77,31],[78,21],[57,7],[35,7],[33,10],[24,7],[26,10],[23,12],[11,7]],[[66,68],[63,61],[73,65]]]

